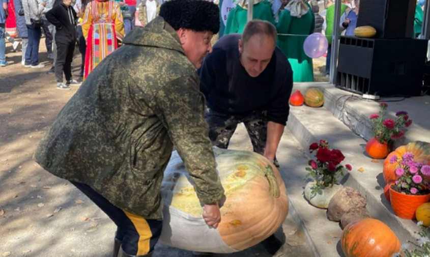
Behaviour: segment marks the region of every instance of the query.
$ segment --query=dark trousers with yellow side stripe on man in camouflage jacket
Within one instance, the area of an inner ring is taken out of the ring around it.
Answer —
[[[145,255],[154,250],[161,235],[162,220],[145,219],[121,210],[90,186],[71,182],[91,199],[118,226],[116,238],[122,241],[122,249],[130,255]]]

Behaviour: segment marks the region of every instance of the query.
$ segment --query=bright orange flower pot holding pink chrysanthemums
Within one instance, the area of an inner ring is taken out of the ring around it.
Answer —
[[[417,208],[430,201],[430,193],[425,195],[410,195],[399,193],[390,187],[391,207],[400,218],[415,219]]]

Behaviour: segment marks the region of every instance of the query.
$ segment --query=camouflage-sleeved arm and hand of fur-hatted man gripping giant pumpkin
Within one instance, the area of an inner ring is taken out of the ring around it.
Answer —
[[[170,82],[155,97],[158,116],[164,122],[185,167],[195,183],[197,197],[205,204],[203,217],[217,227],[221,221],[218,202],[224,195],[215,171],[215,157],[204,119],[205,97],[198,90],[198,78],[184,76]]]

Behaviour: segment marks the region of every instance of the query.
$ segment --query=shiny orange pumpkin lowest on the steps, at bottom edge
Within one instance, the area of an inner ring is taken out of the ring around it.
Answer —
[[[348,224],[340,245],[346,257],[391,257],[400,250],[400,241],[382,221],[372,218]]]

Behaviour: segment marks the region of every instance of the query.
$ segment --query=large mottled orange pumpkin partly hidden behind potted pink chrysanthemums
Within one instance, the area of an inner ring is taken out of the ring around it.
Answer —
[[[406,146],[400,146],[392,153],[390,153],[384,161],[383,175],[385,182],[391,183],[397,179],[395,175],[395,169],[397,163],[391,164],[390,159],[393,155],[397,156],[397,159],[402,159],[402,156],[406,153],[412,153],[414,161],[422,163],[430,163],[430,144],[422,141],[410,142]]]

